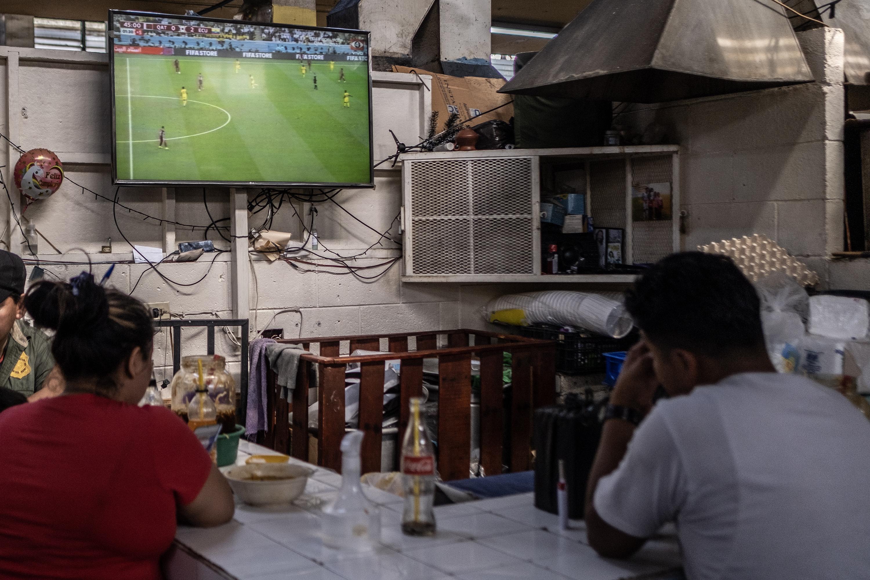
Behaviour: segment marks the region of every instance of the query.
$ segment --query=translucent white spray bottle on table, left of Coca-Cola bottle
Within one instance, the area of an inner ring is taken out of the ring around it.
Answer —
[[[380,510],[365,497],[359,483],[363,435],[354,430],[341,440],[341,490],[324,508],[324,543],[337,550],[373,550],[380,541]]]

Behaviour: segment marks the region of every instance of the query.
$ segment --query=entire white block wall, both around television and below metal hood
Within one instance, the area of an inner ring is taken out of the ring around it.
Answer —
[[[727,237],[761,233],[784,245],[819,271],[823,283],[844,287],[844,271],[827,256],[840,250],[842,239],[842,35],[838,30],[812,30],[799,35],[816,83],[751,93],[698,99],[658,106],[632,107],[622,123],[644,129],[653,121],[665,125],[669,141],[683,147],[682,187],[688,211],[685,249]],[[10,67],[10,52],[23,55],[18,72]],[[110,185],[109,75],[104,55],[60,54],[50,50],[10,50],[0,47],[0,92],[7,95],[0,108],[0,129],[25,148],[46,147],[57,151],[66,163],[68,177],[103,195],[113,197]],[[31,60],[27,60],[28,57]],[[35,61],[39,57],[43,60]],[[46,62],[49,58],[53,62]],[[70,58],[72,58],[70,60]],[[51,89],[43,80],[51,78]],[[396,77],[398,78],[398,77]],[[403,77],[404,78],[404,77]],[[388,129],[405,143],[416,143],[425,131],[425,108],[418,100],[419,87],[412,83],[376,83],[374,103],[375,158],[392,152]],[[11,155],[12,162],[17,155]],[[385,166],[382,166],[385,167]],[[398,169],[398,168],[397,168]],[[3,171],[9,180],[9,169]],[[400,205],[397,170],[378,170],[375,190],[345,191],[337,200],[377,230],[390,227]],[[226,190],[205,192],[212,217],[229,215]],[[209,223],[203,190],[177,190],[179,222]],[[2,196],[4,197],[4,196]],[[159,216],[161,192],[127,188],[124,203]],[[5,200],[3,203],[5,205]],[[305,208],[298,207],[305,215]],[[90,254],[94,271],[102,275],[107,265],[99,262],[130,259],[129,247],[119,236],[112,204],[83,195],[72,183],[50,199],[35,203],[27,217],[37,223],[61,250],[81,248]],[[263,214],[251,217],[258,225]],[[135,214],[117,211],[117,221],[133,243],[160,245],[159,224],[142,221]],[[317,229],[321,240],[333,250],[352,255],[375,241],[377,235],[347,217],[330,203],[318,206]],[[291,231],[300,239],[297,217],[290,206],[278,214],[276,230]],[[397,235],[398,228],[393,232]],[[201,239],[201,232],[178,228],[178,241]],[[9,231],[3,236],[9,240]],[[98,252],[106,237],[112,238],[114,254]],[[217,239],[213,235],[212,238]],[[52,265],[58,260],[41,243],[43,267],[61,278],[77,274],[77,265]],[[218,242],[218,247],[228,244]],[[396,244],[384,242],[360,264],[378,263],[398,255]],[[218,257],[203,283],[173,287],[146,266],[119,264],[113,283],[130,291],[142,275],[134,295],[147,302],[170,302],[171,310],[185,316],[231,317],[229,255]],[[202,277],[209,263],[166,264],[161,271],[178,282],[191,283]],[[310,268],[303,266],[304,268]],[[850,268],[857,266],[851,265]],[[860,267],[864,267],[861,264]],[[417,284],[401,283],[400,264],[376,281],[338,276],[319,264],[313,272],[301,272],[287,263],[251,262],[251,326],[263,329],[269,319],[284,309],[300,312],[278,314],[269,324],[284,329],[286,337],[313,337],[405,330],[450,329],[458,326],[485,328],[480,310],[495,296],[507,292],[545,288],[568,289],[564,284]],[[861,270],[864,272],[864,270]],[[867,282],[864,272],[860,278]],[[575,289],[583,287],[575,286]],[[586,287],[588,288],[588,287]],[[193,313],[202,313],[196,314]],[[191,343],[185,352],[205,350],[205,332],[185,331]],[[155,341],[157,377],[171,374],[167,333]],[[218,334],[218,353],[231,360],[238,373],[238,347]],[[169,368],[168,368],[169,367]]]

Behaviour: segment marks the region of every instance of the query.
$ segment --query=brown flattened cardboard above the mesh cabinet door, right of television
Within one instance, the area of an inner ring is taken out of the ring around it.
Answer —
[[[422,69],[412,69],[406,66],[393,66],[393,72],[432,76],[432,111],[438,111],[438,131],[444,130],[444,123],[452,112],[459,114],[459,121],[465,121],[485,110],[498,107],[511,101],[511,95],[496,92],[505,84],[503,78],[480,77],[449,77]],[[508,104],[492,113],[474,119],[471,123],[477,125],[499,119],[507,123],[513,117],[513,104]]]

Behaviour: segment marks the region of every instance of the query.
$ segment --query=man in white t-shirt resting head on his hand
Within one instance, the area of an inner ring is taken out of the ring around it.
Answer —
[[[642,341],[589,477],[592,547],[629,557],[675,522],[689,580],[870,578],[870,422],[840,393],[774,372],[759,298],[733,262],[666,257],[626,307]],[[653,407],[659,384],[669,398]]]

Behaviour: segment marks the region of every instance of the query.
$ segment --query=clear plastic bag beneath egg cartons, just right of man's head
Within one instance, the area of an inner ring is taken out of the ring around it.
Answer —
[[[800,364],[800,342],[809,296],[793,277],[774,273],[755,283],[761,300],[761,326],[767,354],[779,372],[794,372]]]

